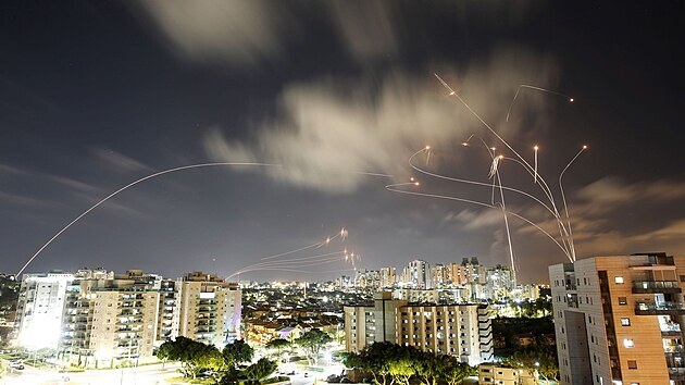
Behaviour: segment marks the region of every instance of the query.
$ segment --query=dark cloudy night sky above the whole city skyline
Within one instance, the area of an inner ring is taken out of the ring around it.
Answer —
[[[685,38],[681,2],[2,1],[0,271],[16,272],[55,232],[117,188],[27,272],[103,266],[227,276],[265,256],[335,235],[308,257],[347,248],[358,266],[421,258],[508,263],[501,210],[400,195],[490,202],[505,150],[434,77],[438,73],[533,162],[560,199],[564,175],[578,258],[685,252]],[[574,98],[522,89],[521,84]],[[513,162],[502,184],[543,199]],[[363,173],[393,175],[373,176]],[[531,199],[507,208],[553,231]],[[565,260],[510,218],[522,282]],[[215,259],[215,261],[213,261]],[[241,280],[333,278],[342,258]]]

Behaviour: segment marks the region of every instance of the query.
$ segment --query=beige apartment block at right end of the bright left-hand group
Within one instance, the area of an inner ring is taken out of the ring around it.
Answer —
[[[202,272],[175,284],[174,335],[224,346],[240,337],[241,291],[237,284]]]

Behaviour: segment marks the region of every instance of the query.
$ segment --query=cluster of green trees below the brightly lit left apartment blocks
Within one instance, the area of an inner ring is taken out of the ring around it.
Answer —
[[[160,346],[157,357],[162,361],[179,361],[185,377],[195,380],[200,373],[207,373],[216,383],[231,383],[238,377],[260,382],[277,369],[277,363],[262,358],[253,364],[239,369],[241,363],[252,362],[254,350],[239,339],[219,350],[213,345],[176,337]]]

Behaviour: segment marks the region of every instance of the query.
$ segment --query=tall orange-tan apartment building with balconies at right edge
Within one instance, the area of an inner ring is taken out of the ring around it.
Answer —
[[[685,384],[685,257],[549,266],[562,384]]]

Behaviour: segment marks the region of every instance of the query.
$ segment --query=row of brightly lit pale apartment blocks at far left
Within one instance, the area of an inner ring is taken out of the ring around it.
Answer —
[[[15,330],[23,347],[110,364],[179,335],[223,346],[238,336],[240,297],[236,284],[199,272],[177,281],[139,270],[25,274]]]

